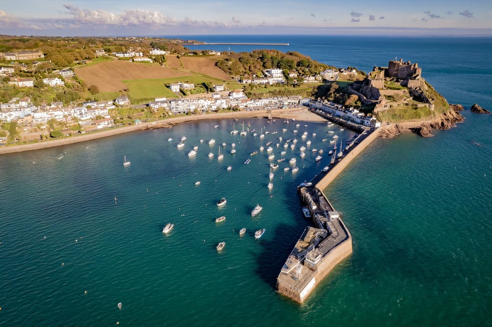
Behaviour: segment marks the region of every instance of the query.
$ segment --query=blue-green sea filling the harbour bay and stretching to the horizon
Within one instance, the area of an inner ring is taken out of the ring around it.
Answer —
[[[464,105],[465,121],[430,138],[376,139],[325,190],[354,251],[302,305],[275,288],[310,225],[296,186],[329,163],[333,135],[344,143],[354,132],[220,119],[1,155],[0,326],[491,326],[492,115],[469,111],[492,109],[491,38],[180,37],[289,43],[269,48],[364,71],[395,57],[418,62],[438,92]],[[243,123],[247,136],[230,134]],[[313,148],[324,151],[320,162]],[[270,163],[281,158],[269,191]],[[256,204],[263,211],[252,218]],[[215,223],[219,216],[226,220]]]

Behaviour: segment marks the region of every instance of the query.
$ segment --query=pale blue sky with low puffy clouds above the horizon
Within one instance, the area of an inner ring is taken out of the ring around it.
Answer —
[[[0,33],[492,36],[487,0],[1,1]]]

